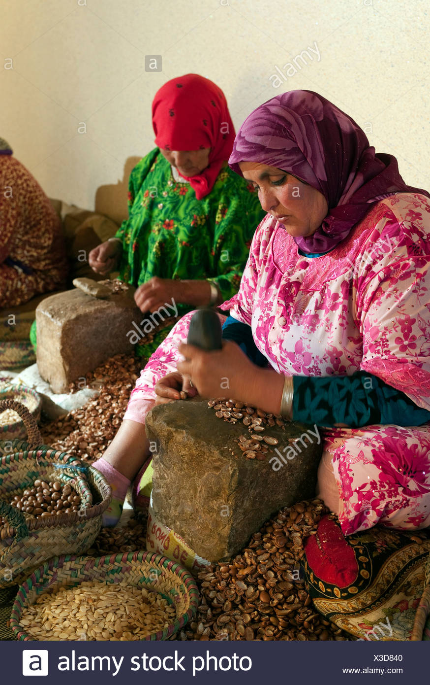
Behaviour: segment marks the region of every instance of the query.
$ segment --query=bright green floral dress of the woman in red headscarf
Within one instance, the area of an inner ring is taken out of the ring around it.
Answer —
[[[187,182],[178,183],[159,148],[135,166],[129,180],[129,219],[116,237],[122,241],[120,279],[140,286],[153,276],[210,279],[224,300],[239,289],[252,236],[265,216],[252,185],[226,164],[213,189],[201,200]],[[183,316],[190,306],[177,305]],[[169,332],[137,345],[149,357]]]

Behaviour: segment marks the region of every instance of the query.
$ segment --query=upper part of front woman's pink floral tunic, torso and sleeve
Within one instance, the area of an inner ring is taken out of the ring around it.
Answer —
[[[279,373],[360,369],[430,409],[430,203],[400,193],[377,203],[338,247],[299,254],[267,216],[239,293],[221,305],[252,326]]]

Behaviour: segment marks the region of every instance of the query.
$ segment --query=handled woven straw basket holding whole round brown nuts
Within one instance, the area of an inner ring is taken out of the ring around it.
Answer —
[[[96,539],[102,514],[111,501],[111,488],[92,466],[42,445],[27,408],[13,400],[0,401],[0,411],[16,411],[28,441],[0,441],[0,587],[23,582],[33,569],[62,554],[83,554]],[[81,497],[79,511],[60,516],[26,519],[11,506],[14,495],[33,486],[36,478],[69,484]]]

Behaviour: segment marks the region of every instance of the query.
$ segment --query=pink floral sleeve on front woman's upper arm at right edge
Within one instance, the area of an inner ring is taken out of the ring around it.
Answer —
[[[412,229],[409,228],[409,231]],[[416,232],[419,231],[416,229]],[[386,243],[381,250],[382,242]],[[418,247],[420,245],[420,247]],[[379,246],[379,247],[378,247]],[[378,251],[379,250],[379,251]],[[430,410],[430,246],[386,223],[358,277],[362,369]]]

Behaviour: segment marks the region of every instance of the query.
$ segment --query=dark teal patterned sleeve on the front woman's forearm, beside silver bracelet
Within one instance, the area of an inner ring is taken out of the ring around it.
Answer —
[[[294,421],[351,428],[418,426],[430,421],[429,411],[366,371],[351,376],[294,376],[293,385]]]

